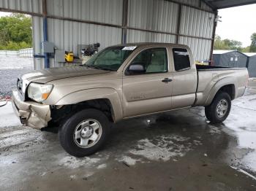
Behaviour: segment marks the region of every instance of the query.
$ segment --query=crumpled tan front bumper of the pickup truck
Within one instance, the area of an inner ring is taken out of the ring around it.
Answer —
[[[12,91],[12,109],[20,122],[31,128],[45,128],[51,119],[50,106],[34,101],[21,101],[17,91]]]

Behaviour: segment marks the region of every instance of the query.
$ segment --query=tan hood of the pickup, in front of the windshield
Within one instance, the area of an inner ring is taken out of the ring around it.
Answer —
[[[110,71],[91,69],[87,68],[86,66],[72,66],[31,71],[24,74],[21,79],[26,82],[47,83],[56,79],[105,74],[108,72]]]

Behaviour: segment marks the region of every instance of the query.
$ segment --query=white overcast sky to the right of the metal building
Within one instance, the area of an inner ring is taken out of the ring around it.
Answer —
[[[243,47],[251,44],[250,36],[256,33],[256,4],[219,9],[219,16],[222,22],[218,22],[216,34],[240,41]]]

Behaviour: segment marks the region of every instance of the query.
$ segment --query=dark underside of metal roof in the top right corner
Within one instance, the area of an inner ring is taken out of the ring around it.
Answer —
[[[224,9],[246,4],[255,4],[255,0],[204,0],[213,9]]]

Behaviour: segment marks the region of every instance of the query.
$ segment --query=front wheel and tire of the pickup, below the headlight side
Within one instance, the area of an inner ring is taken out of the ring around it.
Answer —
[[[66,152],[85,157],[97,152],[110,133],[110,122],[97,109],[84,109],[67,119],[59,130],[59,140]]]

